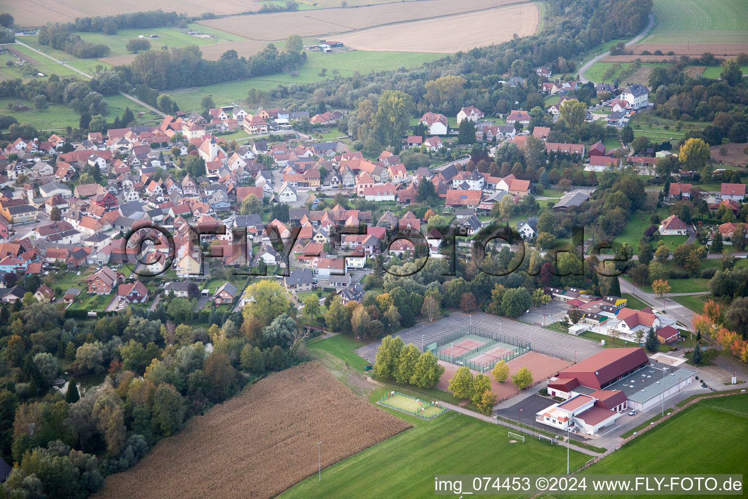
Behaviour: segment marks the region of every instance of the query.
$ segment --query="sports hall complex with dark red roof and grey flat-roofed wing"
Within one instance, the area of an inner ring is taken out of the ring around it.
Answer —
[[[693,382],[695,370],[650,360],[641,347],[604,349],[548,380],[548,394],[565,399],[536,421],[595,435],[625,411],[646,411]]]

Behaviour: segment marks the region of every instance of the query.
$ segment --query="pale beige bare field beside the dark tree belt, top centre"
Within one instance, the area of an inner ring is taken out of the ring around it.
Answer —
[[[349,34],[336,35],[346,46],[360,50],[400,50],[404,52],[458,52],[535,33],[539,10],[527,3],[464,13],[456,16],[402,22]],[[455,26],[470,26],[469,30]],[[432,37],[433,33],[441,36]]]

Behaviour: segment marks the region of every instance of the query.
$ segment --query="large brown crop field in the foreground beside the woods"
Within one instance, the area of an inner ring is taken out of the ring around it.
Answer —
[[[410,425],[355,397],[319,362],[275,373],[194,417],[93,499],[272,498]]]

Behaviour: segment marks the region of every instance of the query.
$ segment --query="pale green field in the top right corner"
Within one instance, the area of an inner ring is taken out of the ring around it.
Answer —
[[[743,0],[654,0],[657,25],[641,43],[736,43],[748,38]]]

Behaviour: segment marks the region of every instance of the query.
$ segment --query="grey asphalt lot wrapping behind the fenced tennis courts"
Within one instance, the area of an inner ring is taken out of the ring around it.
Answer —
[[[506,317],[494,316],[488,313],[475,312],[472,314],[473,326],[482,327],[490,331],[509,334],[520,340],[530,340],[533,350],[542,353],[550,353],[569,361],[574,360],[576,355],[577,361],[587,358],[592,354],[600,352],[601,346],[592,340],[583,337],[572,336],[558,331],[542,328],[537,325],[525,324]],[[421,348],[423,340],[424,345],[428,345],[447,334],[467,328],[470,325],[470,315],[468,313],[453,313],[451,316],[435,322],[420,322],[412,328],[404,329],[396,334],[402,338],[405,343],[413,343]],[[376,357],[376,349],[381,342],[370,343],[359,349],[361,357],[367,361],[373,362]],[[574,353],[576,351],[576,354]]]

